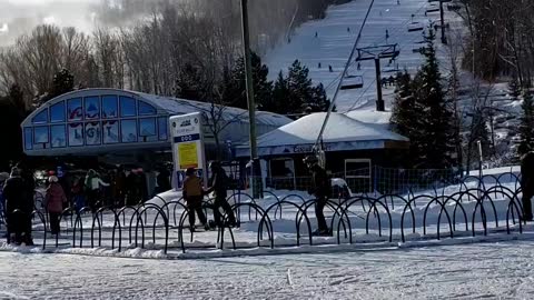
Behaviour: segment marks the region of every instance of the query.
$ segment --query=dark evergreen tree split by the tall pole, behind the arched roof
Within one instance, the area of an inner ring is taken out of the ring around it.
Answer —
[[[257,104],[269,102],[273,92],[273,82],[268,81],[269,68],[261,63],[261,58],[251,53],[254,97]],[[247,109],[247,86],[245,81],[245,60],[239,58],[236,67],[231,70],[230,82],[227,92],[227,102],[231,107]]]

